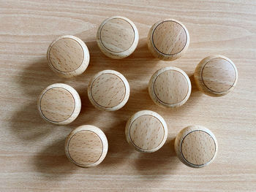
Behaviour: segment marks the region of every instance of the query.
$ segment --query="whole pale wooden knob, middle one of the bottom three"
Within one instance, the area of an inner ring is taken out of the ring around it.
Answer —
[[[135,147],[135,150],[152,153],[165,144],[167,125],[157,112],[143,110],[129,118],[125,134],[127,142]]]

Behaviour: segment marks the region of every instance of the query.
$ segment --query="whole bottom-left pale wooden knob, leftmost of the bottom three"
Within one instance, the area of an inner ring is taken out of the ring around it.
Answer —
[[[96,126],[79,126],[67,136],[65,152],[77,166],[97,166],[108,153],[108,139]]]

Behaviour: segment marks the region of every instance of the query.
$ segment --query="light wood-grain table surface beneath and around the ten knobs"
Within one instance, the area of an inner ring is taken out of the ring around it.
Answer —
[[[96,31],[105,18],[134,21],[140,40],[128,58],[101,53]],[[176,61],[159,61],[146,45],[149,28],[164,18],[181,20],[191,38]],[[0,1],[0,191],[256,191],[256,1]],[[89,47],[86,72],[70,80],[48,67],[46,51],[56,37],[72,34]],[[222,54],[238,68],[238,84],[227,96],[213,98],[195,87],[198,62]],[[176,110],[157,107],[148,96],[151,75],[178,66],[192,80],[192,94]],[[91,77],[114,69],[129,81],[131,95],[116,112],[96,110],[86,88]],[[64,82],[80,93],[82,110],[68,126],[45,123],[37,96],[46,86]],[[125,124],[138,110],[153,110],[167,121],[168,138],[155,153],[130,147]],[[105,131],[109,151],[99,166],[81,169],[67,160],[64,139],[77,126]],[[214,163],[201,169],[182,164],[173,139],[185,126],[210,128],[219,142]]]

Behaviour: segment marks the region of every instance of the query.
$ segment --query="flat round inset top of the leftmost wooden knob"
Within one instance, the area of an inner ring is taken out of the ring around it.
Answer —
[[[40,101],[42,115],[50,121],[61,122],[67,120],[75,110],[75,100],[65,88],[50,88]]]

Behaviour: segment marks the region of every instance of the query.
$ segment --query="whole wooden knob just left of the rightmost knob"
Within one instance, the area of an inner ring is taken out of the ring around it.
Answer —
[[[160,107],[180,107],[189,99],[191,82],[184,71],[167,66],[152,75],[148,83],[148,93]]]

